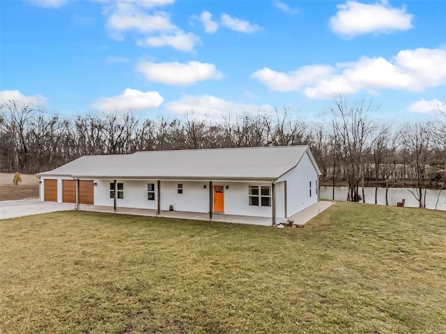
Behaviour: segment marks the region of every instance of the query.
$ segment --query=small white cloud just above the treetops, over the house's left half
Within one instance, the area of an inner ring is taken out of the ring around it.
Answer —
[[[125,112],[130,109],[138,111],[157,108],[163,100],[157,91],[142,92],[128,88],[121,95],[112,98],[99,98],[91,104],[91,108],[102,112]]]

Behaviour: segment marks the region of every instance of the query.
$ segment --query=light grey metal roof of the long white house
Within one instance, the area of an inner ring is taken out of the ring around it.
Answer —
[[[141,151],[130,155],[86,155],[50,172],[96,179],[278,179],[293,169],[308,146]]]

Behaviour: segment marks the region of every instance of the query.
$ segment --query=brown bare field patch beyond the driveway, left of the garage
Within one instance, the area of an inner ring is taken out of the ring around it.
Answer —
[[[0,201],[39,197],[39,179],[33,174],[20,174],[22,182],[13,184],[14,173],[0,173]]]

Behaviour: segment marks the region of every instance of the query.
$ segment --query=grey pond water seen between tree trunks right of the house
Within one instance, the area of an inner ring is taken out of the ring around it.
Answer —
[[[415,189],[410,188],[411,191],[415,192]],[[390,206],[396,206],[397,202],[401,202],[401,199],[406,199],[405,206],[418,207],[418,201],[410,193],[410,190],[406,188],[389,188],[388,199]],[[359,190],[360,195],[362,190]],[[426,190],[426,208],[435,208],[438,192],[440,190]],[[346,201],[348,188],[347,187],[334,187],[334,199],[338,201]],[[374,204],[375,203],[375,188],[366,187],[364,188],[365,202]],[[424,192],[423,192],[424,193]],[[415,192],[416,194],[416,192]],[[424,194],[423,194],[424,195]],[[332,187],[321,187],[321,199],[332,199],[333,188]],[[385,205],[385,188],[378,188],[378,204]],[[440,192],[440,197],[438,198],[437,210],[446,211],[446,190]]]

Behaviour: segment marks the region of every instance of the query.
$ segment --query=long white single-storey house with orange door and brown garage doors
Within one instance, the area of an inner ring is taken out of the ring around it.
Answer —
[[[308,146],[85,155],[40,177],[40,200],[286,220],[318,202]]]

